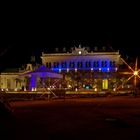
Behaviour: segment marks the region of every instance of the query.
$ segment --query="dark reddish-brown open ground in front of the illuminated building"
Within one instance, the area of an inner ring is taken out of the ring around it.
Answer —
[[[43,140],[140,139],[140,97],[108,96],[11,102],[4,137]]]

